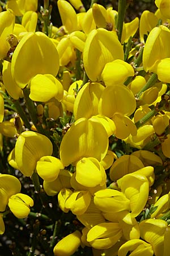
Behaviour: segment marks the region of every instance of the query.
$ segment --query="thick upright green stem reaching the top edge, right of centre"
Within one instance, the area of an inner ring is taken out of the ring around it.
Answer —
[[[126,13],[126,0],[118,1],[118,16],[117,16],[117,30],[118,30],[118,40],[121,42],[122,30],[124,26],[124,18]]]

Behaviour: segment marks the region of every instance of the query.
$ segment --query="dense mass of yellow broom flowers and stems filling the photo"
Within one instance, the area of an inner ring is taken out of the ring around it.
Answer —
[[[58,0],[61,27],[48,1],[40,11],[36,0],[3,6],[0,148],[14,145],[14,171],[0,175],[0,234],[8,212],[34,209],[19,170],[52,220],[45,201],[56,196],[79,223],[54,255],[80,245],[94,255],[169,255],[170,4],[155,4],[155,14],[124,23],[126,1],[117,13]]]

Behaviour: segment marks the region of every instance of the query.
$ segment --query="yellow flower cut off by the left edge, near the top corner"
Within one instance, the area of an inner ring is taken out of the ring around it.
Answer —
[[[15,24],[15,16],[11,10],[2,11],[0,13],[0,59],[6,57],[10,44],[7,42],[7,37],[12,34]]]

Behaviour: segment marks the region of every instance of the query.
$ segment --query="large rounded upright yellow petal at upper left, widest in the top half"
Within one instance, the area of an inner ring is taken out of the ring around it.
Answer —
[[[37,74],[56,76],[58,69],[58,52],[48,36],[42,32],[28,32],[23,36],[11,61],[11,74],[20,88]]]

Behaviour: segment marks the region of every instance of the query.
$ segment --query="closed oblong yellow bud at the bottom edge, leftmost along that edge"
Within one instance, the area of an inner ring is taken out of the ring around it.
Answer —
[[[75,253],[81,243],[82,234],[76,230],[60,240],[54,246],[54,255],[56,256],[71,256]]]

